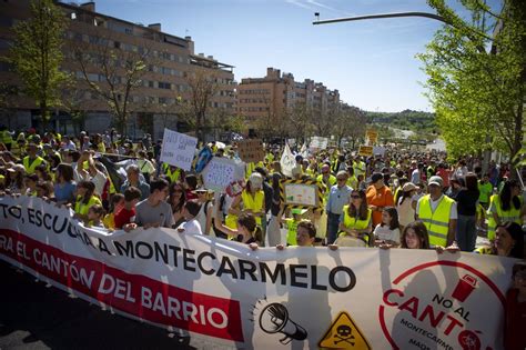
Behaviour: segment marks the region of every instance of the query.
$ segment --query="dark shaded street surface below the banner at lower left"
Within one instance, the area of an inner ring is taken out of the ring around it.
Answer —
[[[102,311],[0,262],[0,349],[222,349]]]

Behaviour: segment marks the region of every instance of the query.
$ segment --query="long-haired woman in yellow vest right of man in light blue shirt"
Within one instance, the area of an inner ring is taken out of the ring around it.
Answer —
[[[362,239],[365,243],[368,243],[370,233],[373,228],[372,212],[367,208],[365,191],[353,190],[351,192],[351,203],[343,207],[343,214],[340,217],[338,237],[348,236]]]

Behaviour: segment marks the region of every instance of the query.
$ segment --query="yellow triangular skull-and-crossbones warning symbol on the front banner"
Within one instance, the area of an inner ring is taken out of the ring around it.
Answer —
[[[322,349],[371,349],[362,331],[345,311],[340,312],[317,346]]]

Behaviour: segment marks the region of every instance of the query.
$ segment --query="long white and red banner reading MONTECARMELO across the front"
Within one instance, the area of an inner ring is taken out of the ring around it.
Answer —
[[[230,347],[503,349],[516,259],[252,251],[172,229],[110,233],[71,214],[36,197],[0,198],[0,259],[119,314]]]

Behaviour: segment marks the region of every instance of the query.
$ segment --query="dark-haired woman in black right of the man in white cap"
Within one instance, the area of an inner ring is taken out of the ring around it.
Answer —
[[[464,179],[465,187],[456,194],[458,221],[456,224],[456,242],[462,251],[473,251],[477,240],[477,204],[478,179],[468,172]]]

